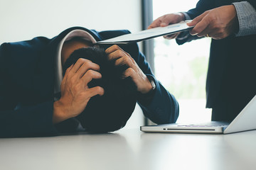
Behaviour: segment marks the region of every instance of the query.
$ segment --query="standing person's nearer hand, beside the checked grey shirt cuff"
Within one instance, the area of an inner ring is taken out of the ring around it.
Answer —
[[[191,35],[198,37],[211,37],[220,40],[238,31],[238,16],[235,6],[220,6],[206,11],[188,23],[188,26],[195,26]]]

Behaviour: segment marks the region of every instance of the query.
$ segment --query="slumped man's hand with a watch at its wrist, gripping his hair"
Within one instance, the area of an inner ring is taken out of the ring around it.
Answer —
[[[115,60],[115,65],[127,64],[129,66],[123,73],[123,78],[131,77],[137,86],[137,91],[146,94],[152,89],[152,85],[146,75],[139,68],[134,59],[122,50],[118,45],[112,45],[105,51],[109,60]]]

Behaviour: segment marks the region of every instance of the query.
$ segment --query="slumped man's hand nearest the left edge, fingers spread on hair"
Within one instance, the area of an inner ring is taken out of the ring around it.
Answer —
[[[61,82],[61,98],[53,103],[53,124],[82,113],[92,96],[104,94],[100,86],[88,88],[92,79],[101,79],[100,66],[90,60],[80,58],[69,67]]]

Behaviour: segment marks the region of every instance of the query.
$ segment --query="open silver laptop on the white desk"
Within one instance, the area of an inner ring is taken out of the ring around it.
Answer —
[[[181,124],[171,123],[164,125],[141,126],[143,132],[176,132],[176,133],[211,133],[228,134],[256,129],[256,96],[247,103],[245,108],[231,123],[212,121],[210,123]]]

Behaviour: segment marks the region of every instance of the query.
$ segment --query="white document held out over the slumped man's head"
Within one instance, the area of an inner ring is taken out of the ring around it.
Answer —
[[[182,32],[193,28],[193,26],[188,26],[186,23],[191,20],[182,21],[181,23],[174,23],[166,27],[157,27],[151,28],[149,30],[142,30],[138,33],[129,33],[121,35],[116,38],[110,38],[108,40],[98,41],[95,44],[104,45],[104,44],[128,44],[132,42],[139,42],[142,40],[148,40],[150,38],[156,38],[163,35],[171,35],[174,33]]]

